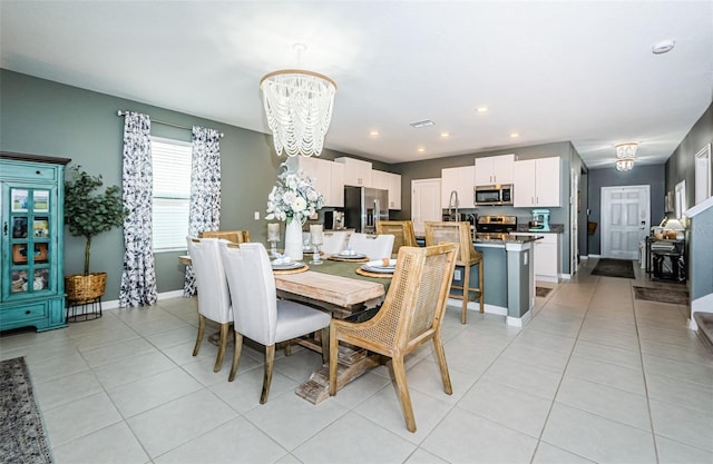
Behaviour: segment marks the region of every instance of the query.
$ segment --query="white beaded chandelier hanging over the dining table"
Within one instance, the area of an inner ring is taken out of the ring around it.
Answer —
[[[283,69],[260,81],[277,156],[320,156],[332,120],[336,85],[326,76]]]

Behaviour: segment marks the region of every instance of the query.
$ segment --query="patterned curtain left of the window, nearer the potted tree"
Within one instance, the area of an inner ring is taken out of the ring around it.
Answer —
[[[124,273],[120,307],[153,305],[156,302],[156,272],[153,246],[153,168],[148,115],[127,112],[124,119]]]

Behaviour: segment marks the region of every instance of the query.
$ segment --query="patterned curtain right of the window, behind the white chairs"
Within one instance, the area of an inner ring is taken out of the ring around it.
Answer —
[[[221,226],[221,138],[215,129],[193,127],[188,235],[218,230]],[[196,294],[193,268],[186,267],[184,296]]]

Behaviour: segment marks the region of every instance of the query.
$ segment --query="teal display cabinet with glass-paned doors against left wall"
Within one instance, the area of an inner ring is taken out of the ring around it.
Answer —
[[[0,152],[0,330],[65,327],[67,158]]]

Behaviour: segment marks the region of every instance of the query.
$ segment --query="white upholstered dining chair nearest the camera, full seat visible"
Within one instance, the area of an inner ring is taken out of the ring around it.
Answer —
[[[235,352],[228,382],[235,379],[243,337],[265,346],[265,373],[260,403],[267,402],[275,362],[275,344],[323,330],[323,356],[332,316],[287,299],[277,299],[275,277],[263,244],[222,244],[221,256],[233,299]]]

